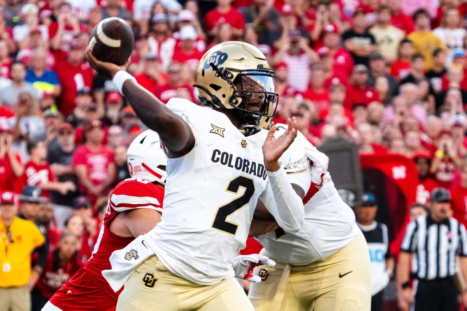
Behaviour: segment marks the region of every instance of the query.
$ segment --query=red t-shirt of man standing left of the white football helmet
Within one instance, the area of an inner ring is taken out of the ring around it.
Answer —
[[[98,152],[92,152],[86,145],[76,149],[71,160],[71,167],[74,169],[78,165],[85,165],[87,177],[94,185],[102,184],[108,177],[109,165],[113,163],[113,151],[106,146],[101,146]],[[86,193],[83,185],[80,192]]]

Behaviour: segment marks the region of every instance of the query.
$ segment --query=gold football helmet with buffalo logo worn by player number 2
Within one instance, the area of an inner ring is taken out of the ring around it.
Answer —
[[[199,100],[205,106],[234,109],[244,124],[258,125],[261,117],[273,118],[278,94],[276,76],[264,54],[255,46],[238,41],[215,45],[197,68]],[[257,110],[251,110],[250,103]],[[253,105],[254,106],[254,105]]]

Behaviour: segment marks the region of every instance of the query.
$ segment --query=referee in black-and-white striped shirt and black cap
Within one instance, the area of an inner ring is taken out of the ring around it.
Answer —
[[[415,311],[459,310],[456,286],[456,259],[459,258],[462,277],[467,279],[467,232],[463,224],[449,217],[451,195],[445,188],[431,193],[430,210],[407,226],[401,245],[397,268],[399,308],[409,311],[414,300]],[[410,262],[414,256],[413,278],[418,280],[410,288]],[[462,293],[464,302],[467,292]]]

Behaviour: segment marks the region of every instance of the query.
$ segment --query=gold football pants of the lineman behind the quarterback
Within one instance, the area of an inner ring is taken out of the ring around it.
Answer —
[[[260,254],[274,259],[264,249]],[[263,279],[251,283],[248,292],[255,311],[370,311],[370,258],[360,230],[324,260],[306,266],[277,262],[274,268],[256,267],[254,273]]]

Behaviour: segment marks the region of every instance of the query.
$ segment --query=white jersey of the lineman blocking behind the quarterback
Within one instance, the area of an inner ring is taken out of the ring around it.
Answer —
[[[276,126],[280,134],[287,127],[283,124]],[[310,142],[303,134],[298,133],[289,148],[293,150],[293,155],[285,169],[290,183],[302,186],[306,193],[313,185],[310,161],[304,151],[305,144]],[[279,228],[256,237],[271,258],[295,266],[304,266],[336,253],[360,230],[355,223],[354,212],[342,201],[332,181],[325,183],[308,202],[304,202],[304,207],[305,221],[300,231],[285,233]]]

